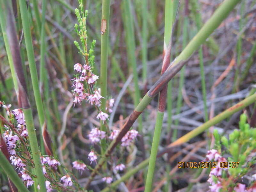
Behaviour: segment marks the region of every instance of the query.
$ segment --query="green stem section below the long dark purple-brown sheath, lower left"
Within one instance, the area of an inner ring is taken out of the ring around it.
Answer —
[[[44,178],[44,173],[43,173],[41,159],[40,159],[40,151],[39,151],[38,143],[36,139],[36,131],[35,131],[35,126],[34,126],[34,121],[32,116],[32,110],[31,108],[27,108],[27,109],[23,109],[23,111],[24,111],[24,116],[26,120],[26,127],[28,129],[29,144],[31,147],[33,160],[36,168],[37,180],[39,182],[40,191],[45,192],[46,191],[45,178]]]

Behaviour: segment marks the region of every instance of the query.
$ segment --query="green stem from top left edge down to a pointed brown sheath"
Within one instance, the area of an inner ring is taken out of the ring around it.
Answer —
[[[24,38],[26,43],[27,55],[28,55],[29,70],[30,70],[31,81],[32,81],[33,91],[34,91],[35,100],[36,100],[36,108],[38,112],[38,117],[40,122],[40,132],[41,132],[41,127],[44,124],[44,108],[43,108],[43,102],[42,102],[42,98],[39,91],[36,62],[35,62],[32,37],[31,37],[31,32],[30,32],[30,27],[28,22],[29,20],[28,20],[27,4],[25,0],[19,0],[19,4],[20,4],[20,14],[21,14]]]

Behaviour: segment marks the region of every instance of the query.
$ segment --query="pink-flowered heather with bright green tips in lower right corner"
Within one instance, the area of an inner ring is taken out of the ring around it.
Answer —
[[[214,130],[215,145],[206,155],[206,160],[214,161],[208,182],[210,191],[256,191],[256,129],[246,121],[246,115],[240,116],[239,129],[227,137],[220,136]]]

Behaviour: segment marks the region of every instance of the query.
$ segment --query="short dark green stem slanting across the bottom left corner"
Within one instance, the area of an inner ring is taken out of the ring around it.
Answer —
[[[16,171],[13,169],[12,165],[4,156],[3,152],[0,150],[0,166],[4,170],[5,174],[12,180],[14,185],[17,187],[19,191],[29,192],[26,188]]]

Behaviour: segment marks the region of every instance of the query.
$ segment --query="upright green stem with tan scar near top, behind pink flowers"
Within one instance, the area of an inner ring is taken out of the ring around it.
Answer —
[[[108,77],[108,33],[109,33],[109,12],[110,0],[102,0],[101,15],[101,41],[100,41],[100,93],[101,111],[106,111],[107,97],[107,77]],[[101,131],[106,131],[106,127],[101,121]]]

